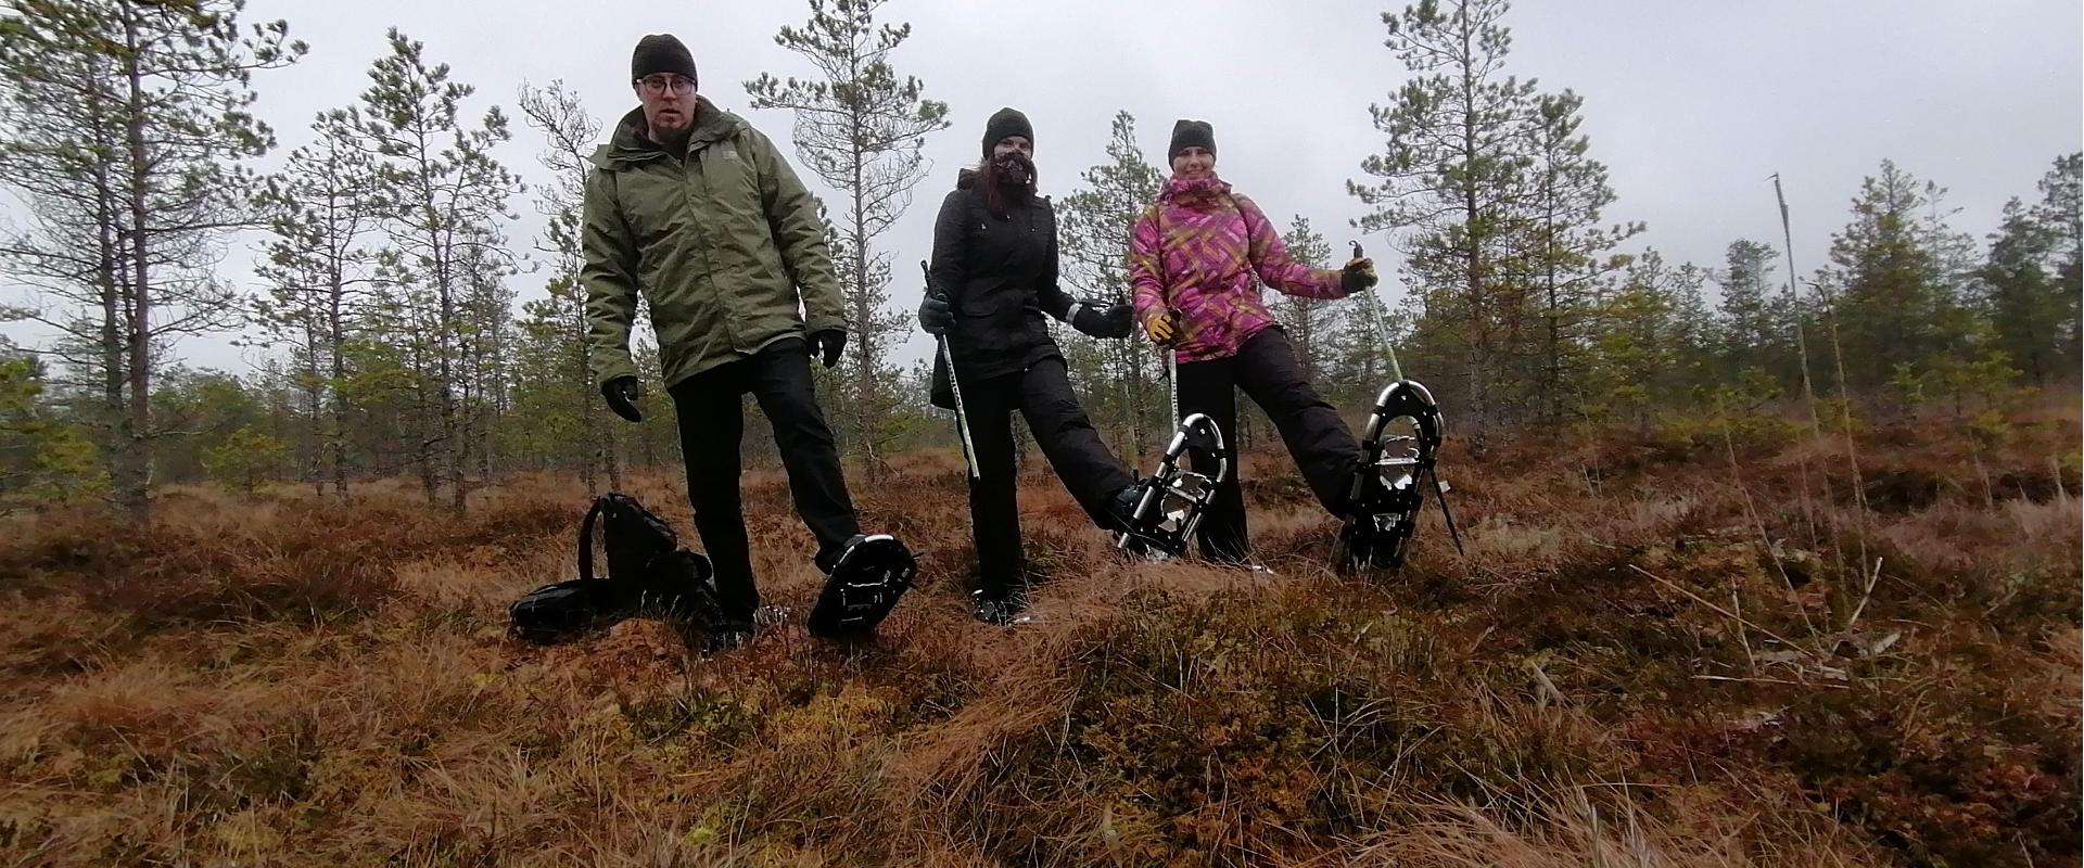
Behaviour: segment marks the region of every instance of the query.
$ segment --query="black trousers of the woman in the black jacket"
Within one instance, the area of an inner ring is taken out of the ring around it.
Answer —
[[[961,373],[957,373],[961,375]],[[1027,420],[1036,445],[1077,506],[1102,529],[1115,529],[1109,502],[1136,483],[1100,441],[1086,410],[1077,406],[1061,358],[1044,358],[1025,371],[986,381],[961,381],[963,412],[977,454],[979,479],[969,481],[969,531],[977,543],[977,581],[984,593],[1002,595],[1025,583],[1021,556],[1021,510],[1013,479],[1013,412]]]

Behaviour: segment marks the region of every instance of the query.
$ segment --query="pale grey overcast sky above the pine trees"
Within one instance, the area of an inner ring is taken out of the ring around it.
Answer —
[[[932,175],[884,239],[896,262],[932,248],[934,210],[957,169],[979,154],[984,119],[1015,106],[1036,125],[1036,162],[1046,194],[1065,196],[1077,173],[1102,160],[1109,119],[1130,110],[1142,146],[1163,164],[1173,119],[1215,125],[1217,171],[1280,225],[1309,216],[1334,244],[1359,237],[1363,212],[1344,181],[1382,148],[1367,106],[1388,102],[1407,79],[1382,48],[1378,2],[1355,0],[894,0],[882,17],[907,21],[913,37],[892,62],[948,102],[952,127],[927,137]],[[1400,8],[1400,6],[1396,6]],[[1782,173],[1794,212],[1794,258],[1807,275],[1824,264],[1830,233],[1863,175],[1894,158],[1951,189],[1955,227],[1982,239],[2011,196],[2034,198],[2034,181],[2057,154],[2080,150],[2084,87],[2078,0],[1521,0],[1509,15],[1509,71],[1544,90],[1586,98],[1582,131],[1611,167],[1613,221],[1646,221],[1638,244],[1669,262],[1719,266],[1738,237],[1778,241],[1767,175]],[[782,25],[809,15],[804,2],[429,2],[250,0],[248,19],[288,19],[311,54],[294,69],[260,73],[258,114],[283,150],[302,144],[311,117],[350,104],[365,71],[386,52],[386,27],[427,44],[433,62],[477,87],[471,110],[494,102],[515,117],[500,154],[531,181],[540,139],[513,104],[521,81],[563,79],[588,110],[613,123],[636,104],[629,50],[644,33],[677,33],[700,67],[700,90],[786,150],[786,112],[746,110],[744,81],[763,71],[811,75],[773,44]],[[817,181],[807,177],[807,183]],[[513,227],[515,248],[538,229],[531,206]],[[1384,237],[1363,239],[1386,291],[1400,296]],[[254,244],[233,250],[227,271],[246,273]],[[909,306],[919,287],[896,269],[892,296]],[[517,279],[523,300],[540,275]],[[10,289],[6,300],[19,300]],[[33,333],[13,335],[33,341]],[[909,356],[929,343],[915,335]],[[188,341],[200,366],[242,366],[217,339]]]

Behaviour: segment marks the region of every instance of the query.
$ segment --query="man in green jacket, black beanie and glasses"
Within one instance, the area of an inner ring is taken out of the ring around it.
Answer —
[[[642,293],[679,416],[694,525],[715,564],[725,622],[711,649],[727,649],[750,637],[759,608],[738,491],[748,391],[773,423],[819,570],[829,575],[863,539],[809,364],[840,360],[846,318],[817,200],[773,142],[696,94],[694,56],[673,35],[638,42],[629,73],[642,106],[594,152],[586,179],[579,279],[594,379],[619,416],[642,418],[629,358]]]

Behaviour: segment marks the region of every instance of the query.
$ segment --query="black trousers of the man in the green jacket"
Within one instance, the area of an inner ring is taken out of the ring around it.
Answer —
[[[679,416],[679,452],[688,462],[694,529],[717,568],[723,616],[746,624],[761,606],[738,493],[746,429],[742,398],[748,391],[773,425],[796,514],[817,537],[817,566],[829,570],[846,541],[861,533],[846,477],[840,475],[840,450],[811,387],[811,356],[802,339],[769,343],[759,354],[675,383],[671,395]]]

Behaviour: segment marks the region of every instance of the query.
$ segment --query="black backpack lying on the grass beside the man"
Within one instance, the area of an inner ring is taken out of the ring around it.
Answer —
[[[609,572],[594,575],[594,527]],[[709,558],[679,547],[673,529],[625,493],[594,497],[579,522],[579,579],[544,585],[506,606],[515,637],[554,643],[629,616],[709,627],[721,616]]]

